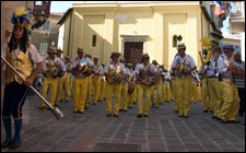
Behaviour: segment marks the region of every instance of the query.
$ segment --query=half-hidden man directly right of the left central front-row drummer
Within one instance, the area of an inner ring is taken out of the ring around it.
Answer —
[[[119,111],[127,111],[127,101],[128,101],[128,79],[129,79],[129,69],[126,68],[126,59],[125,58],[121,58],[119,60],[120,63],[124,64],[126,71],[127,71],[127,78],[122,80],[121,82],[121,97],[120,97],[120,104],[119,104]]]

